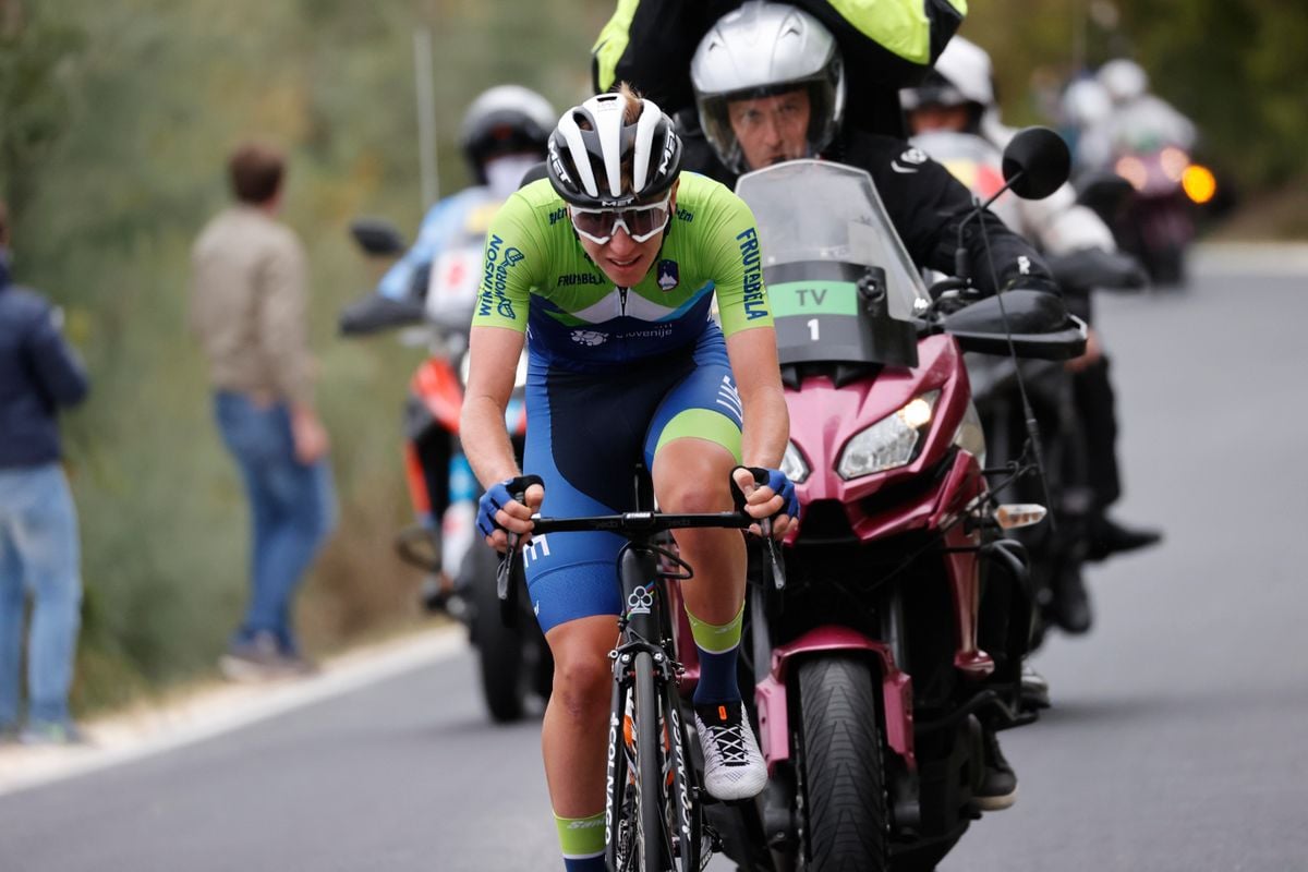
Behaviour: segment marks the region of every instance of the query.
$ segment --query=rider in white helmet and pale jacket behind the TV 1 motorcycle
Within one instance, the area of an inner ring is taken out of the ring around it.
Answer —
[[[912,141],[927,154],[947,153],[952,146],[951,137],[965,136],[989,146],[981,152],[982,161],[998,167],[1001,149],[1015,131],[999,119],[993,81],[990,55],[976,43],[955,37],[927,80],[900,94],[913,132]],[[989,191],[978,190],[977,193],[988,196]],[[1118,272],[1126,280],[1124,286],[1144,282],[1139,264],[1125,263],[1122,255],[1114,254],[1117,246],[1112,230],[1091,209],[1076,203],[1070,184],[1063,184],[1044,200],[1006,197],[999,205],[1008,210],[1010,226],[1036,241],[1052,263],[1065,264],[1065,288],[1076,284],[1078,265],[1092,260]],[[1086,288],[1083,293],[1067,294],[1069,309],[1087,323],[1092,320],[1088,292]],[[1108,507],[1121,495],[1121,478],[1109,360],[1097,331],[1090,331],[1086,353],[1069,361],[1067,369],[1074,373],[1075,401],[1087,443],[1088,478],[1095,493],[1087,557],[1103,560],[1113,553],[1152,545],[1162,539],[1158,531],[1130,528],[1108,516]],[[1087,630],[1091,624],[1090,597],[1080,574],[1066,574],[1057,582],[1052,592],[1058,624],[1073,633]]]

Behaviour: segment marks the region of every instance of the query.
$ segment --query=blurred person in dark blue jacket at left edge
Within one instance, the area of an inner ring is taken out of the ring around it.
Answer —
[[[0,735],[65,744],[80,735],[68,714],[81,569],[77,511],[60,459],[60,407],[86,396],[86,374],[64,340],[63,315],[9,284],[9,220],[0,203]],[[26,726],[18,713],[24,609]]]

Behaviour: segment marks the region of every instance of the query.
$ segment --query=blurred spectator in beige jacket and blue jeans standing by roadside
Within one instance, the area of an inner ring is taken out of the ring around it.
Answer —
[[[250,604],[221,667],[258,680],[313,671],[292,631],[292,600],[335,523],[335,494],[314,412],[305,251],[277,221],[285,158],[246,144],[228,169],[237,203],[192,250],[191,329],[252,519]]]

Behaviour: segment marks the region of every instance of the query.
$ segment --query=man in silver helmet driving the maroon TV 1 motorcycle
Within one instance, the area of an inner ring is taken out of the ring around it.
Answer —
[[[691,80],[704,133],[731,173],[806,157],[867,170],[920,267],[952,275],[961,226],[978,290],[1058,293],[1040,255],[995,214],[982,210],[968,220],[972,195],[948,170],[901,139],[842,126],[844,59],[831,31],[808,13],[751,1],[723,16],[700,42]],[[1016,799],[1018,779],[994,726],[982,726],[986,773],[977,801],[989,811],[1007,808]]]

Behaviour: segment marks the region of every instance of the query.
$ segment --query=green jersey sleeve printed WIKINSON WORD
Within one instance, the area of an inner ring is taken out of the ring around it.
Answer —
[[[492,218],[487,231],[472,326],[526,332],[531,289],[543,264],[535,209],[521,192],[514,193]]]

